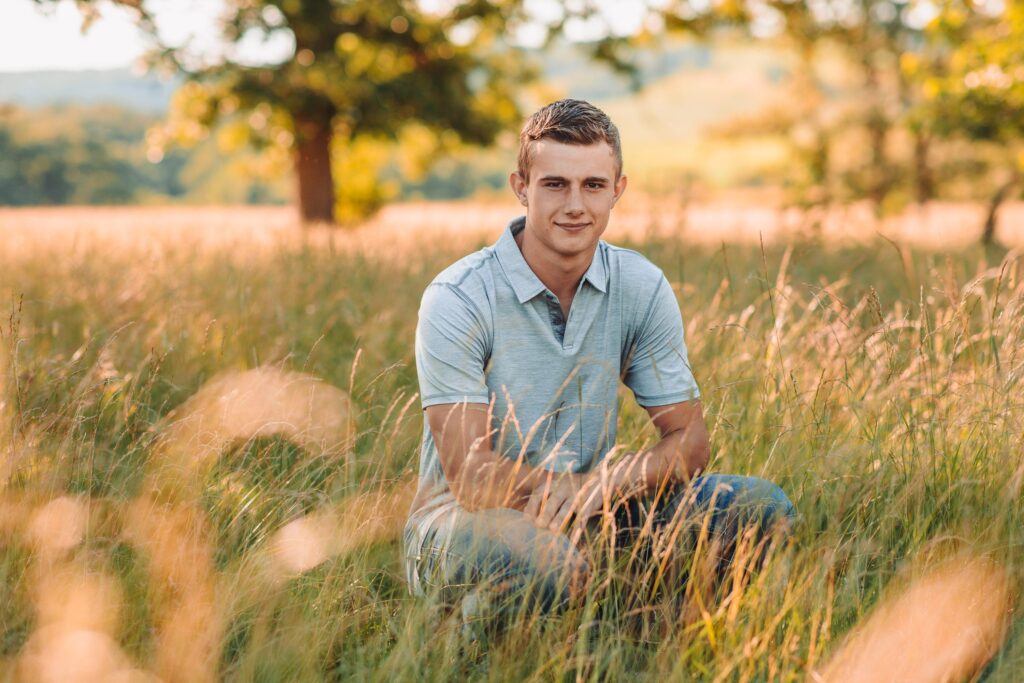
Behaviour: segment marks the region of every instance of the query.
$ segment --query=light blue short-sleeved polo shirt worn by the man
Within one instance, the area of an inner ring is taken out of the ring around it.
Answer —
[[[567,318],[519,251],[509,223],[427,287],[416,329],[423,408],[493,403],[493,445],[507,458],[586,472],[615,443],[622,380],[644,407],[697,398],[683,322],[665,274],[642,255],[598,243]],[[424,420],[420,492],[407,542],[457,506]]]

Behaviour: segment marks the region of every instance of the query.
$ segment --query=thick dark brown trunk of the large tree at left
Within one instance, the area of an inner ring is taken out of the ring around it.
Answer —
[[[334,176],[331,173],[329,114],[298,115],[295,121],[295,177],[303,223],[334,222]]]

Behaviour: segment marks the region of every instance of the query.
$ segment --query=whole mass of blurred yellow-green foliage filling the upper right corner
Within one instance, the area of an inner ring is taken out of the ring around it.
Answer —
[[[879,214],[972,185],[994,209],[1020,184],[1024,6],[981,0],[650,3],[665,26],[736,25],[796,54],[783,104],[720,126],[776,136],[804,206],[867,199]],[[656,9],[662,7],[662,9]],[[714,35],[714,34],[713,34]],[[993,148],[992,143],[1001,147]]]

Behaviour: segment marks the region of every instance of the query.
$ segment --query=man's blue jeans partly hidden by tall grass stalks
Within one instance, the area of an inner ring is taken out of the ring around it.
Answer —
[[[674,544],[671,551],[686,554],[687,546],[692,550],[702,536],[715,544],[721,570],[742,533],[766,539],[795,517],[790,499],[770,481],[708,474],[657,498],[625,501],[614,510],[614,531],[602,538],[627,550],[638,540],[660,539],[660,556],[666,543]],[[587,536],[600,536],[600,519],[592,522]],[[656,544],[645,545],[640,555],[650,559]],[[431,522],[418,549],[409,546],[407,538],[411,590],[439,594],[450,603],[482,588],[521,596],[545,611],[564,606],[586,585],[593,562],[593,554],[567,536],[539,527],[531,517],[508,508],[468,512],[455,506]]]

